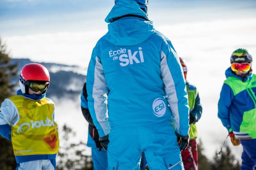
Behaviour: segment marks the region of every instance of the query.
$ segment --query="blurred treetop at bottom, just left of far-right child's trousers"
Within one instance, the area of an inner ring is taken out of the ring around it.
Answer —
[[[216,152],[213,158],[212,170],[239,170],[240,165],[238,160],[232,154],[229,146],[225,147],[225,150],[219,156]]]

